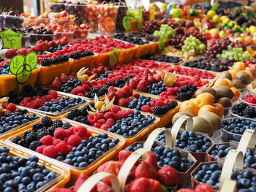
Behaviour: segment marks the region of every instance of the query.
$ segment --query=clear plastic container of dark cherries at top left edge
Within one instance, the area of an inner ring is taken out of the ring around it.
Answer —
[[[23,17],[0,15],[0,28],[24,28],[25,20]]]

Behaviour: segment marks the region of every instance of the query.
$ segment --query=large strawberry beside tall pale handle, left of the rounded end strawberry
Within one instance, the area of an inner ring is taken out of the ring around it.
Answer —
[[[138,179],[140,177],[156,179],[157,170],[151,164],[148,164],[145,161],[143,161],[138,165],[138,167],[135,170],[135,178]]]

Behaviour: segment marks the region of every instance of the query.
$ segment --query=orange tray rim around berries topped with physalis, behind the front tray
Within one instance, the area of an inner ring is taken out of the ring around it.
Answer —
[[[82,108],[82,107],[80,107],[80,108]],[[124,108],[124,107],[121,107],[121,110],[128,110],[128,109],[127,109],[127,108]],[[136,111],[136,110],[134,110],[134,111]],[[142,139],[146,139],[147,134],[150,134],[151,131],[153,131],[154,128],[156,128],[156,127],[158,126],[159,118],[158,118],[157,116],[155,116],[155,115],[151,115],[151,114],[148,114],[148,113],[146,113],[146,112],[140,112],[140,113],[141,113],[142,115],[154,116],[155,120],[154,120],[154,123],[152,123],[152,124],[150,124],[150,125],[144,127],[143,129],[141,129],[141,130],[140,130],[137,134],[135,134],[134,136],[132,136],[132,137],[124,137],[124,136],[119,135],[119,134],[114,134],[114,133],[112,133],[112,132],[110,132],[110,131],[103,131],[103,132],[108,133],[108,134],[112,134],[112,135],[114,135],[114,136],[116,136],[116,137],[124,138],[124,139],[125,139],[125,147],[131,145],[131,144],[132,144],[133,142],[135,142],[135,141],[142,140]],[[69,122],[69,123],[74,123],[74,124],[78,124],[78,125],[81,125],[81,126],[86,126],[86,127],[90,128],[91,130],[95,130],[95,131],[100,130],[100,128],[96,128],[96,127],[93,127],[93,126],[89,126],[89,125],[87,125],[87,124],[83,124],[83,123],[79,123],[79,122],[74,121],[74,120],[70,120],[70,119],[66,118],[66,115],[67,115],[67,113],[64,114],[64,115],[62,115],[62,116],[61,116],[61,119],[62,119],[62,120],[65,120],[65,121],[67,121],[67,122]]]

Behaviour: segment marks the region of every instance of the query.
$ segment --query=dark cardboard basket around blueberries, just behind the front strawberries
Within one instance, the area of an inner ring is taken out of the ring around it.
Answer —
[[[158,146],[163,146],[163,147],[167,148],[167,145],[165,145],[164,143],[158,142],[158,141],[155,141],[155,142],[157,143]],[[144,142],[134,142],[132,144],[132,146],[136,146],[138,144],[143,145]],[[187,169],[187,172],[176,172],[177,173],[177,185],[184,186],[187,183],[189,183],[189,174],[192,172],[193,169],[195,169],[195,166],[197,166],[197,160],[187,150],[178,149],[178,151],[181,153],[182,158],[187,158],[189,161],[192,160],[194,162],[194,164],[192,164],[192,166],[189,169]]]

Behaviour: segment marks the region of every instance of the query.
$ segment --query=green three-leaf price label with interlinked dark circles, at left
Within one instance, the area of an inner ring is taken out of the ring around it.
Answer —
[[[37,65],[37,53],[34,51],[26,55],[16,55],[10,61],[10,72],[16,76],[16,80],[20,84],[27,82],[31,76],[32,70]]]

